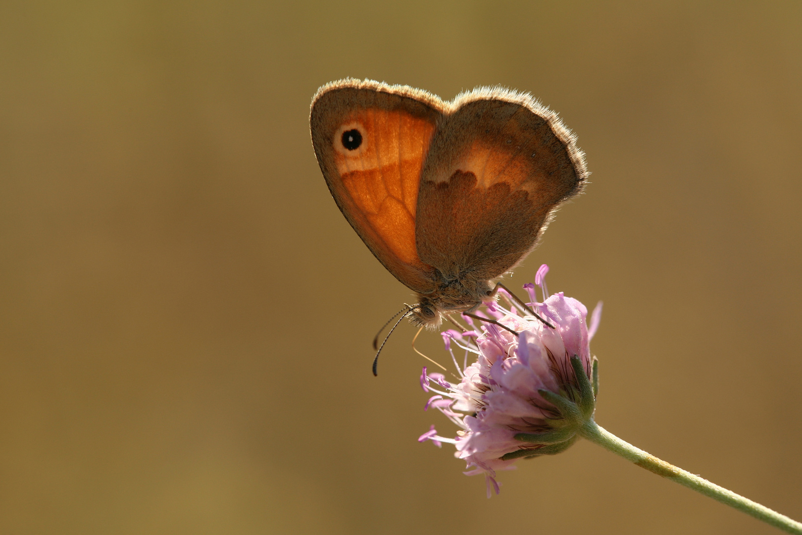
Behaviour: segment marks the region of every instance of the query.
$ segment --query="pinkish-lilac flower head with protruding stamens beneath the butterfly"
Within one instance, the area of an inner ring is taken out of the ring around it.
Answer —
[[[510,299],[508,310],[488,303],[487,317],[509,330],[490,323],[477,325],[476,320],[463,316],[472,330],[443,333],[459,383],[449,383],[444,375],[427,372],[425,367],[421,375],[423,390],[435,394],[425,408],[437,408],[460,430],[452,439],[439,436],[432,426],[419,441],[432,440],[438,446],[454,444],[455,456],[468,463],[469,470],[464,473],[485,475],[488,497],[492,490],[499,492],[496,471],[515,468],[512,464],[520,457],[561,452],[577,438],[561,411],[546,397],[553,392],[580,401],[581,383],[591,380],[589,339],[595,333],[601,307],[594,310],[589,333],[585,305],[562,292],[549,296],[545,288],[548,270],[542,265],[536,279],[543,302],[536,302],[533,285],[525,289],[532,300],[529,306],[554,328]],[[455,347],[465,353],[461,367]],[[468,365],[468,355],[476,355],[476,362]],[[577,378],[577,371],[585,378]],[[593,400],[582,403],[590,403],[592,414]]]

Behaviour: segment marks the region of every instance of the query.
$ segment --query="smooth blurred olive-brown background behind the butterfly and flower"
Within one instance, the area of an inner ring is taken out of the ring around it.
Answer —
[[[511,284],[606,303],[600,424],[802,518],[799,2],[0,10],[0,532],[776,533],[593,444],[488,500],[416,442],[412,326],[370,371],[410,291],[310,144],[346,76],[559,111],[591,184]]]

